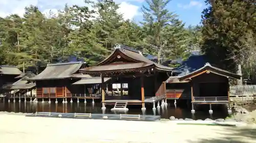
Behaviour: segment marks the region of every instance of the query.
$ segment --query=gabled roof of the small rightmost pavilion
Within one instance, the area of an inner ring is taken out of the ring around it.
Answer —
[[[240,77],[241,77],[241,75],[234,74],[229,71],[222,70],[220,68],[216,68],[214,66],[211,66],[209,63],[206,63],[202,68],[195,70],[195,71],[193,71],[187,75],[184,75],[182,77],[179,77],[179,80],[180,81],[186,80],[189,77],[196,76],[197,74],[199,74],[203,71],[206,71],[206,70],[208,70],[209,72],[221,75],[221,76],[227,76],[227,77],[234,78],[234,79],[240,79]]]

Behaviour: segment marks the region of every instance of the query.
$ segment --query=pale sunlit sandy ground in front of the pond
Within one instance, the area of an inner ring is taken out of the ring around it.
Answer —
[[[1,113],[0,142],[256,142],[256,130],[252,127],[177,125],[172,121],[58,119]]]

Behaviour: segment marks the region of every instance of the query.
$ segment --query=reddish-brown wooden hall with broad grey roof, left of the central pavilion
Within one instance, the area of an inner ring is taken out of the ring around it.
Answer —
[[[49,64],[44,71],[28,80],[36,83],[37,98],[71,98],[72,93],[83,92],[79,86],[72,85],[82,77],[88,77],[77,74],[82,67],[82,62]]]

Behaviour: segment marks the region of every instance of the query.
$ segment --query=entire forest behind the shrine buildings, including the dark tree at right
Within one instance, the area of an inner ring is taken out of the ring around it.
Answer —
[[[255,0],[205,0],[201,25],[188,27],[166,8],[169,1],[146,0],[139,22],[125,20],[110,0],[84,2],[93,9],[66,5],[50,16],[30,6],[23,17],[0,17],[0,64],[26,68],[76,55],[94,65],[123,44],[157,56],[160,64],[200,49],[215,66],[235,72],[242,65],[244,76],[255,78]]]

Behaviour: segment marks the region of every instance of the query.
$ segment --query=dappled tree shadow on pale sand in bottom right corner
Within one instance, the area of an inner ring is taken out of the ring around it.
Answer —
[[[217,131],[221,134],[219,138],[201,139],[197,141],[188,140],[191,143],[252,143],[256,142],[256,129],[238,128],[238,127],[225,127],[225,132]]]

